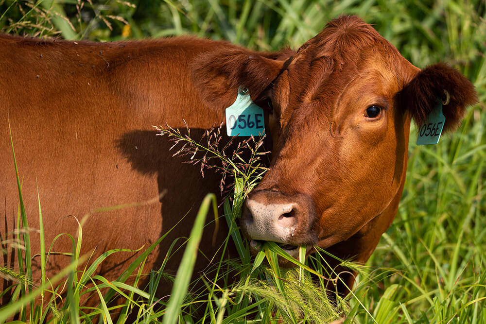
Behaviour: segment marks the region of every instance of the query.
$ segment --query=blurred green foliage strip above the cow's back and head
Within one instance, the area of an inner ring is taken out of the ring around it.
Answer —
[[[257,50],[297,48],[327,21],[358,15],[418,67],[448,61],[468,74],[486,52],[484,0],[0,0],[7,33],[96,41],[194,34]],[[475,80],[477,75],[468,75]]]

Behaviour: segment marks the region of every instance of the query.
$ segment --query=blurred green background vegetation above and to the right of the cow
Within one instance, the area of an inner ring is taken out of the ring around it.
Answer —
[[[359,280],[360,302],[378,323],[486,323],[484,0],[0,0],[0,30],[96,41],[193,34],[269,51],[296,49],[343,14],[373,24],[419,68],[458,68],[480,99],[438,145],[417,147],[412,126],[399,215]],[[355,322],[373,323],[356,304]]]

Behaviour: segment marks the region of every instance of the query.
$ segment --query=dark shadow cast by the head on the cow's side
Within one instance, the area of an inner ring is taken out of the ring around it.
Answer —
[[[185,128],[179,130],[182,134],[187,134]],[[191,129],[191,138],[198,141],[206,131],[205,129]],[[116,145],[135,171],[156,176],[158,194],[164,193],[160,201],[161,217],[154,218],[154,222],[162,222],[162,231],[159,233],[160,237],[174,226],[175,228],[162,241],[160,249],[155,256],[156,260],[154,260],[153,268],[158,269],[172,242],[181,237],[189,237],[195,215],[204,197],[211,192],[216,194],[219,202],[221,202],[222,198],[219,188],[221,180],[220,174],[216,174],[214,170],[206,169],[203,178],[200,171],[200,164],[191,165],[189,163],[183,163],[188,161],[189,158],[172,156],[177,152],[181,144],[177,145],[172,151],[169,151],[174,145],[174,142],[168,136],[156,136],[155,134],[154,131],[144,130],[125,133],[117,140]],[[223,143],[226,143],[228,140],[229,138],[226,135],[223,136]],[[223,216],[222,208],[220,208],[219,216]],[[177,224],[181,218],[184,218],[184,220]],[[228,232],[224,218],[220,218],[217,239],[213,243],[212,237],[216,226],[212,213],[208,214],[206,223],[205,233],[199,245],[202,253],[199,253],[197,256],[193,278],[199,277],[205,269],[210,267],[210,259],[213,258]],[[147,239],[148,242],[153,243],[158,237]],[[180,239],[175,244],[173,253],[184,241],[184,239]],[[179,249],[169,259],[164,270],[166,273],[175,274],[184,249],[185,246]],[[237,256],[235,251],[232,241],[230,241],[226,257]],[[214,258],[213,264],[219,261],[219,256]],[[171,289],[171,285],[159,285],[159,297],[167,296],[170,294]]]

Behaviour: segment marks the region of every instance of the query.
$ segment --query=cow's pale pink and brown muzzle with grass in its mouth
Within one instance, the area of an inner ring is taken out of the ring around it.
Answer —
[[[299,246],[317,244],[315,220],[310,196],[258,190],[245,201],[241,228],[250,240],[252,252],[259,250],[262,241],[272,241],[296,257]]]

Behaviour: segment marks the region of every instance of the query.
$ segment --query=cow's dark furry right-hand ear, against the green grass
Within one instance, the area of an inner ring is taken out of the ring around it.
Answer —
[[[456,129],[466,107],[478,101],[476,90],[469,80],[445,63],[420,70],[399,93],[399,102],[411,111],[418,127],[434,109],[438,99],[444,103],[444,131]]]

